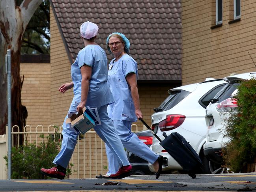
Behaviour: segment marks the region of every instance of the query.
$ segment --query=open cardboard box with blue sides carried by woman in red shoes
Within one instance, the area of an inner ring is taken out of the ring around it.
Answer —
[[[92,117],[86,113],[86,108],[83,108],[83,113],[74,112],[68,114],[66,123],[71,123],[71,127],[77,131],[80,131],[82,134],[86,133],[88,130],[95,127],[95,122]]]

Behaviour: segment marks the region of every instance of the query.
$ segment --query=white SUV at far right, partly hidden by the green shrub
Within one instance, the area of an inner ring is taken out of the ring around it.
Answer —
[[[256,77],[256,72],[243,73],[223,78],[228,84],[222,88],[206,108],[207,137],[204,144],[204,155],[209,160],[211,173],[228,173],[222,167],[222,147],[229,141],[223,138],[225,124],[230,116],[230,111],[237,108],[237,102],[232,99],[237,92],[240,82],[251,77]]]

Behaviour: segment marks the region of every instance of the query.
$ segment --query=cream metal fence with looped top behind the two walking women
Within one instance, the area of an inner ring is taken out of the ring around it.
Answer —
[[[138,130],[137,125],[133,124],[132,131],[138,132],[140,130]],[[39,145],[46,140],[46,138],[40,137],[41,134],[55,136],[56,133],[61,132],[62,126],[56,128],[54,125],[49,125],[44,128],[42,125],[37,125],[36,128],[32,129],[30,125],[26,125],[23,131],[20,131],[20,128],[15,125],[12,127],[11,134],[12,141],[15,135],[19,140],[23,134],[24,143]],[[7,155],[7,136],[0,135],[0,179],[7,178],[6,160],[3,158],[5,155]],[[72,170],[72,175],[69,175],[69,178],[95,178],[95,175],[107,172],[108,162],[105,144],[95,131],[90,130],[86,134],[78,136],[77,145],[69,163],[73,164],[72,167],[69,166]]]

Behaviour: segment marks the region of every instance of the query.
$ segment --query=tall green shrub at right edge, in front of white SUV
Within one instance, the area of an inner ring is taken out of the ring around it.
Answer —
[[[224,137],[230,138],[224,162],[234,172],[252,163],[256,155],[256,79],[241,82],[237,88],[238,109],[231,112]]]

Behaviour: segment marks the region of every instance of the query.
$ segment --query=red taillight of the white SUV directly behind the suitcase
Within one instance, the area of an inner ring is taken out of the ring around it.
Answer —
[[[159,122],[159,129],[161,131],[172,130],[179,127],[185,120],[183,115],[167,115],[166,119]]]

